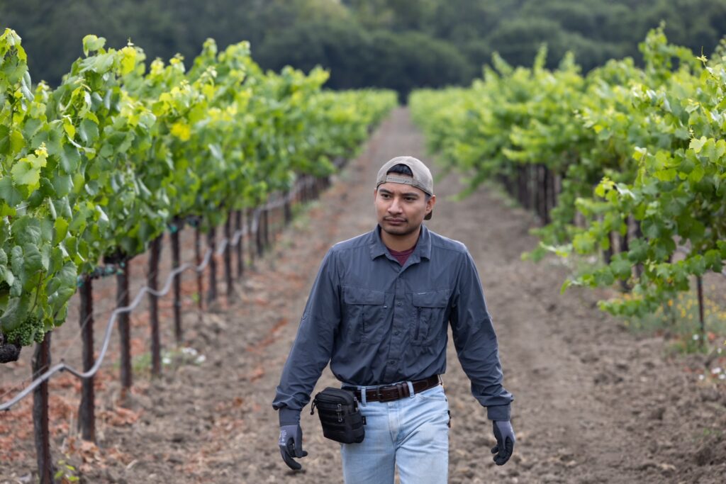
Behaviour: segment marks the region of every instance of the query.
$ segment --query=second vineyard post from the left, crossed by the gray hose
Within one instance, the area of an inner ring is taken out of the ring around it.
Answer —
[[[90,276],[83,276],[81,287],[81,337],[83,338],[83,372],[88,372],[94,364],[93,352],[93,283]],[[81,380],[81,403],[78,406],[78,430],[83,440],[96,441],[96,417],[95,417],[95,376]]]

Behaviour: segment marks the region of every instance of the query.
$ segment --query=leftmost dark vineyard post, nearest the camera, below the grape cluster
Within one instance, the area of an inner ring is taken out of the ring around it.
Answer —
[[[33,379],[41,376],[50,368],[50,337],[47,332],[43,343],[36,344],[33,352]],[[38,477],[41,484],[53,482],[53,459],[50,455],[50,429],[48,422],[48,380],[33,390],[33,430],[36,440],[36,459]]]

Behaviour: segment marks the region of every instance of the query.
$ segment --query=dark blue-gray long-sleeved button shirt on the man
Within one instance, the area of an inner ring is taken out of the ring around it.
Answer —
[[[474,397],[492,420],[510,418],[497,336],[465,245],[421,227],[404,266],[380,227],[334,245],[308,298],[272,406],[299,421],[323,369],[350,385],[421,380],[446,372],[447,324]]]

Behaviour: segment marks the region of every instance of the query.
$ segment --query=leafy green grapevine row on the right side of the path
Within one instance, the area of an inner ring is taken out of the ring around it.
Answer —
[[[530,257],[600,255],[563,290],[620,284],[600,307],[623,316],[654,311],[726,259],[725,51],[697,57],[663,30],[640,44],[642,68],[612,60],[582,75],[568,54],[547,70],[543,48],[531,68],[495,55],[470,89],[409,99],[469,190],[495,179],[544,207]]]

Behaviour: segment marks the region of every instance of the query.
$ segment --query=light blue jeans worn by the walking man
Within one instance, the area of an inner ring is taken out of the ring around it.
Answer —
[[[449,401],[438,385],[412,397],[367,402],[362,443],[340,444],[346,484],[446,484]]]

